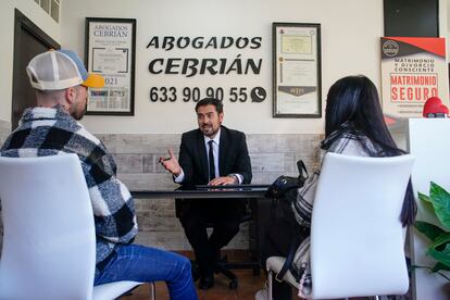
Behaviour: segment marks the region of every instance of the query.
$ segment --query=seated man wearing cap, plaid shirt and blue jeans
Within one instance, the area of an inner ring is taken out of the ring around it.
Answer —
[[[186,258],[132,245],[138,230],[134,200],[116,178],[115,162],[104,145],[77,122],[85,113],[88,88],[102,87],[104,79],[88,74],[80,59],[68,50],[38,54],[26,71],[36,89],[37,108],[25,110],[18,128],[1,147],[0,154],[78,155],[95,214],[95,285],[165,280],[171,299],[197,299]]]

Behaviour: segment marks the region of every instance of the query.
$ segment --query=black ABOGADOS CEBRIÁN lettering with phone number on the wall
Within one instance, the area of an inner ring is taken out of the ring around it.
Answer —
[[[205,97],[232,103],[264,101],[267,93],[260,83],[245,80],[261,74],[261,45],[260,36],[151,36],[146,47],[150,102],[197,102]]]

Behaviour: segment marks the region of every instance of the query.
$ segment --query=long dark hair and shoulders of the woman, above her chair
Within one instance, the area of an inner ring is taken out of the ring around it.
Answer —
[[[390,135],[384,121],[375,85],[365,76],[348,76],[329,89],[325,109],[325,140],[321,149],[342,154],[348,142],[360,147],[361,157],[396,157],[404,154]],[[412,225],[416,204],[411,182],[400,215],[403,226]]]

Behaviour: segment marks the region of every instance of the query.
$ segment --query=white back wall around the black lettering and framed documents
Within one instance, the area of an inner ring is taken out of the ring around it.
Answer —
[[[254,52],[263,58],[263,68],[259,76],[246,79],[246,85],[264,87],[267,99],[262,103],[225,102],[224,124],[248,134],[317,134],[324,127],[321,118],[272,117],[272,22],[322,24],[323,107],[329,86],[342,76],[364,74],[379,87],[378,48],[384,30],[379,0],[64,1],[61,43],[80,55],[86,16],[137,20],[135,116],[86,116],[84,123],[93,133],[185,132],[197,126],[193,104],[151,103],[148,93],[152,86],[195,86],[199,82],[205,86],[239,86],[235,76],[152,77],[148,63],[158,55],[146,49],[151,36],[263,37],[261,49]]]

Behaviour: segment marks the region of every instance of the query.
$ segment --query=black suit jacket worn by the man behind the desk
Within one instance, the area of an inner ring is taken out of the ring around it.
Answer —
[[[178,162],[185,173],[184,186],[208,184],[208,153],[200,129],[183,134]],[[250,184],[251,163],[243,133],[221,126],[218,171],[221,176],[238,173],[242,184]]]

